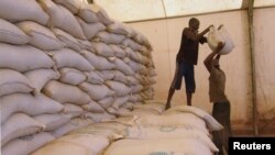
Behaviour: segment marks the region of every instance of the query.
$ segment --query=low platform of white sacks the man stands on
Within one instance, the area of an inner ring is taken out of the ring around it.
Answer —
[[[134,104],[128,117],[92,123],[47,143],[31,155],[213,155],[211,131],[222,126],[189,106],[164,111],[165,101]],[[144,112],[145,111],[145,112]]]

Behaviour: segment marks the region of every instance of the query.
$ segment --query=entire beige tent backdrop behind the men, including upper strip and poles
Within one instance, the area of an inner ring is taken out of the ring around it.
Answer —
[[[232,104],[234,129],[250,134],[266,132],[274,119],[274,69],[272,69],[274,0],[95,0],[113,19],[141,31],[152,43],[156,67],[155,98],[166,100],[175,70],[175,57],[180,35],[188,20],[200,20],[200,30],[223,24],[235,44],[233,52],[222,57],[227,74],[227,93]],[[142,10],[142,11],[140,11]],[[197,89],[194,106],[211,111],[208,102],[208,73],[204,59],[209,54],[200,46],[196,66]],[[185,90],[173,98],[186,104]],[[273,126],[274,128],[274,126]],[[273,130],[270,130],[273,131]]]

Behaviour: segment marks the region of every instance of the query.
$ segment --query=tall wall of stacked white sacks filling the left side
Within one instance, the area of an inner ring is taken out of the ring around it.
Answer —
[[[2,154],[30,154],[152,99],[151,51],[96,4],[0,0]]]

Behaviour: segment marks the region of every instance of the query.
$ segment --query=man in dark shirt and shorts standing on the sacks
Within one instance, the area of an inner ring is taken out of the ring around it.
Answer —
[[[184,29],[182,33],[180,48],[176,58],[176,71],[165,107],[166,110],[170,108],[170,100],[175,90],[179,90],[182,87],[183,76],[185,76],[187,104],[191,106],[191,96],[196,89],[194,65],[197,65],[198,62],[199,43],[204,44],[207,42],[207,38],[204,35],[209,32],[211,26],[212,25],[208,26],[201,33],[198,33],[199,20],[191,18],[189,20],[189,26]]]

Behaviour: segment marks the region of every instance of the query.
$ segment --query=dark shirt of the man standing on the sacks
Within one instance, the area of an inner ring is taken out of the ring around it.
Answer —
[[[177,54],[177,62],[184,60],[185,63],[197,65],[199,43],[206,43],[207,38],[202,36],[199,41],[196,41],[196,35],[198,35],[197,32],[194,32],[191,29],[184,29],[182,33],[180,48]]]

